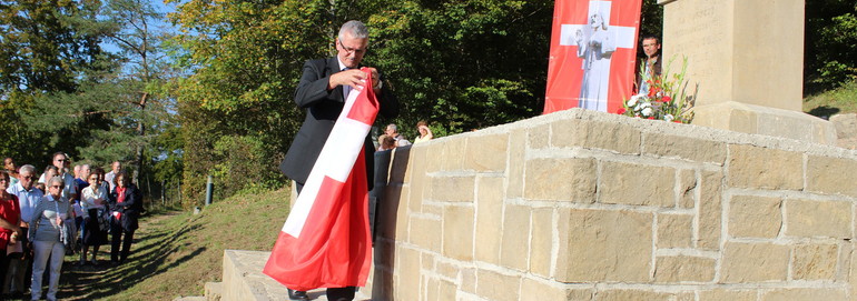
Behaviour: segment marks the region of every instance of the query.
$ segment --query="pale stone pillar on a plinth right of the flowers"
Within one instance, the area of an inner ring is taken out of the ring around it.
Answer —
[[[697,87],[693,124],[836,143],[835,128],[806,114],[804,1],[659,0],[664,67]]]

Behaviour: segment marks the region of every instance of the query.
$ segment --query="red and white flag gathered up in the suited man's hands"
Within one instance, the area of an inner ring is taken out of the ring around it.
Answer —
[[[371,72],[366,82],[372,82]],[[364,287],[372,260],[363,142],[378,112],[353,89],[263,272],[293,290]]]

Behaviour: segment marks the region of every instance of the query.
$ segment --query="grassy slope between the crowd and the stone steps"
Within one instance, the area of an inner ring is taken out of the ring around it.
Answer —
[[[79,255],[66,257],[57,297],[173,300],[203,295],[206,282],[220,281],[225,249],[270,251],[286,221],[287,202],[288,190],[283,189],[236,195],[215,202],[197,215],[148,213],[140,221],[131,254],[124,264],[110,267],[109,245],[101,248],[98,265],[72,265]]]

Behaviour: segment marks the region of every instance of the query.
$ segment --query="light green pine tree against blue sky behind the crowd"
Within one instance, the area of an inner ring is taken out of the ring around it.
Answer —
[[[161,89],[173,70],[160,46],[160,29],[154,26],[162,16],[139,0],[95,3],[89,11],[97,18],[72,16],[63,22],[78,32],[104,38],[118,52],[93,57],[96,68],[78,73],[73,91],[36,97],[24,121],[72,138],[82,161],[131,160],[131,179],[140,184],[144,162],[149,161],[144,150],[151,147],[158,131],[174,127],[164,122],[171,103]],[[156,131],[148,134],[147,127]]]

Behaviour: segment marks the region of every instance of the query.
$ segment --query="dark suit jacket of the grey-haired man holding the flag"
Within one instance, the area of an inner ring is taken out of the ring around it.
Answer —
[[[318,154],[322,152],[327,137],[333,130],[336,119],[339,117],[345,98],[343,97],[343,87],[337,86],[333,90],[327,90],[327,83],[331,74],[339,72],[339,63],[336,57],[327,59],[309,60],[304,63],[304,71],[301,76],[301,82],[295,90],[295,103],[302,109],[306,109],[306,119],[301,130],[297,131],[295,140],[286,152],[286,158],[279,164],[279,170],[286,177],[303,184],[309,177]],[[395,118],[398,114],[398,101],[390,89],[384,84],[378,96],[381,104],[378,114],[385,118]],[[368,189],[373,184],[373,167],[375,147],[370,136],[366,136],[364,142],[364,154],[366,158],[366,179]]]

